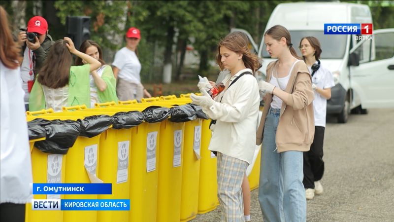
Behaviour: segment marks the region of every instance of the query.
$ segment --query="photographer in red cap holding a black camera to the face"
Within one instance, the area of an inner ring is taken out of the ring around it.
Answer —
[[[21,29],[18,43],[22,47],[23,62],[21,65],[22,87],[25,91],[25,107],[29,110],[29,95],[32,90],[35,74],[46,60],[47,53],[53,45],[48,35],[48,23],[41,16],[34,16],[28,22],[27,29]]]

